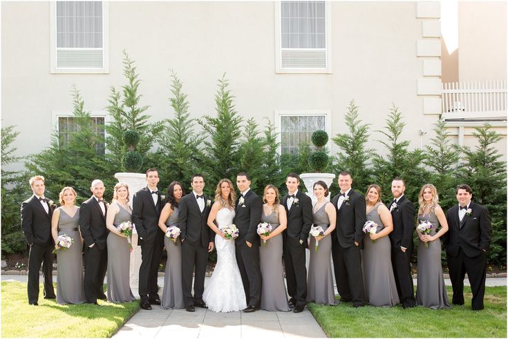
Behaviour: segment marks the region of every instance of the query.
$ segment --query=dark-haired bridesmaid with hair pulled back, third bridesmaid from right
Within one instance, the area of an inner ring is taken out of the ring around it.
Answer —
[[[310,237],[310,261],[307,278],[307,301],[316,304],[335,305],[335,292],[332,282],[332,266],[330,255],[332,253],[332,238],[328,237],[335,229],[337,211],[331,202],[326,200],[328,186],[319,180],[314,183],[314,196],[317,202],[314,205],[314,226],[321,226],[324,235],[316,238]],[[319,249],[316,252],[316,240],[319,241]]]

